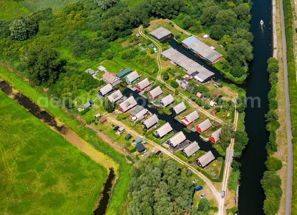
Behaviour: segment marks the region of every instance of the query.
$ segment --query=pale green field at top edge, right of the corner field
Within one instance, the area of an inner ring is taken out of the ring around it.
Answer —
[[[29,11],[34,12],[38,10],[43,10],[48,7],[52,8],[53,10],[59,10],[65,7],[67,4],[72,2],[77,2],[77,0],[23,0],[20,1]]]

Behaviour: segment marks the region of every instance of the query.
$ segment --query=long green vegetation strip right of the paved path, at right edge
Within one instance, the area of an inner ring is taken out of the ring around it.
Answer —
[[[292,143],[293,143],[293,187],[292,187],[292,211],[297,211],[297,202],[294,201],[297,196],[297,181],[296,181],[296,166],[297,166],[297,83],[296,83],[296,67],[293,47],[293,11],[290,0],[283,0],[283,8],[285,15],[285,33],[287,42],[287,64],[288,64],[288,79],[289,79],[289,95],[291,106],[291,122],[292,122]]]

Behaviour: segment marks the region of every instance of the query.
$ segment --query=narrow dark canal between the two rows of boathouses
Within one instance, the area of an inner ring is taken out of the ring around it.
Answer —
[[[132,95],[135,100],[137,101],[138,105],[143,106],[144,108],[147,108],[149,110],[149,112],[151,112],[152,114],[156,114],[158,116],[159,119],[165,121],[165,122],[169,122],[170,126],[173,128],[173,130],[175,131],[183,131],[184,135],[187,137],[187,139],[191,142],[196,141],[198,143],[198,145],[200,146],[200,150],[203,151],[209,151],[211,150],[211,152],[213,153],[213,155],[217,158],[220,157],[219,153],[217,153],[216,150],[214,150],[209,142],[204,142],[203,140],[201,140],[199,136],[198,132],[191,132],[191,133],[187,133],[184,131],[184,128],[186,128],[186,126],[184,126],[183,124],[179,123],[177,120],[175,120],[173,118],[172,115],[166,115],[166,114],[159,114],[156,108],[149,108],[148,104],[149,101],[146,100],[145,98],[141,97],[138,95],[137,91],[132,91],[129,88],[125,89],[123,92],[123,95],[129,97],[130,95]],[[198,113],[199,114],[199,113]]]

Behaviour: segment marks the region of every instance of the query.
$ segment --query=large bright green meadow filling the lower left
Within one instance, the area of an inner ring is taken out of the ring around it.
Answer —
[[[0,211],[91,214],[107,171],[3,92],[0,106]]]

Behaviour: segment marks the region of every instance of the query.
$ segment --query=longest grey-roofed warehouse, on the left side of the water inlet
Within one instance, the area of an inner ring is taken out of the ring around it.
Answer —
[[[189,76],[192,76],[197,81],[205,83],[214,78],[214,73],[201,66],[199,63],[191,60],[187,56],[176,51],[172,47],[161,53],[162,56],[166,57],[171,63],[176,64],[186,70]]]

